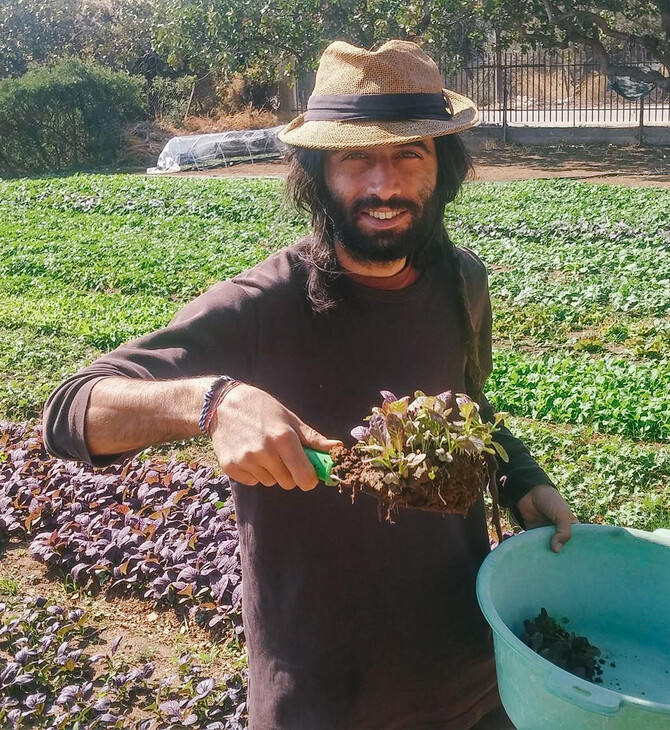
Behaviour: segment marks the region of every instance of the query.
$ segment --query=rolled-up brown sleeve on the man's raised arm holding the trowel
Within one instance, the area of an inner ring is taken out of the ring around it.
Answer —
[[[254,378],[256,319],[245,289],[224,281],[194,299],[162,329],[132,340],[67,378],[44,407],[44,444],[63,459],[107,466],[139,453],[92,456],[84,418],[93,386],[102,378],[176,380],[230,375]]]

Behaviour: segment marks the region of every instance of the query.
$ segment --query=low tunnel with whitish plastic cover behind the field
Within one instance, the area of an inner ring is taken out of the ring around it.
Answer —
[[[233,162],[278,157],[286,149],[277,138],[281,129],[283,126],[173,137],[163,148],[156,167],[150,167],[147,172],[179,172],[192,168],[201,170]]]

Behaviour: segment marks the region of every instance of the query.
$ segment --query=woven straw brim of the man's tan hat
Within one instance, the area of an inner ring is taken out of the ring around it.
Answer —
[[[346,150],[408,144],[427,137],[456,134],[479,124],[479,112],[472,99],[449,89],[444,91],[454,109],[451,119],[306,122],[305,115],[300,114],[279,132],[278,137],[284,144],[294,147]]]

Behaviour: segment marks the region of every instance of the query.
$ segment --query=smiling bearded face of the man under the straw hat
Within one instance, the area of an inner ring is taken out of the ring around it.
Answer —
[[[326,154],[325,205],[339,243],[360,261],[409,256],[436,225],[432,139]]]

